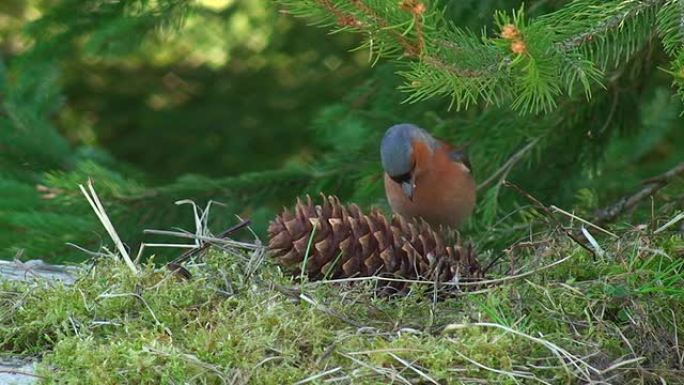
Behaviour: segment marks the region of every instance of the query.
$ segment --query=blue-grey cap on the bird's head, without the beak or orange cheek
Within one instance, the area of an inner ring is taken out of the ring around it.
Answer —
[[[380,143],[380,159],[382,168],[391,177],[408,174],[413,169],[412,143],[421,140],[431,149],[439,143],[422,128],[409,123],[394,125],[387,129]]]

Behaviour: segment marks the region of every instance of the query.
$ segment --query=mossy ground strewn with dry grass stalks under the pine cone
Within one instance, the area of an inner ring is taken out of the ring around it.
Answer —
[[[3,280],[0,346],[50,384],[684,383],[679,226],[591,239],[549,230],[504,251],[507,274],[393,297],[298,282],[263,248],[189,280],[102,256],[73,283]]]

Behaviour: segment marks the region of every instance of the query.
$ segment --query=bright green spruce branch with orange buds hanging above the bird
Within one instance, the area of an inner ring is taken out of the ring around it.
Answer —
[[[529,21],[522,10],[498,12],[500,34],[476,37],[452,25],[428,1],[404,0],[398,6],[387,0],[281,3],[321,24],[334,19],[343,29],[351,25],[350,30],[368,34],[366,46],[378,57],[399,52],[395,58],[407,64],[401,72],[406,79],[402,88],[411,94],[406,101],[450,96],[457,109],[483,101],[528,113],[555,109],[558,99],[572,96],[577,86],[591,97],[593,88],[603,87],[608,64],[625,63],[650,41],[655,15],[664,4],[675,4],[575,0]]]

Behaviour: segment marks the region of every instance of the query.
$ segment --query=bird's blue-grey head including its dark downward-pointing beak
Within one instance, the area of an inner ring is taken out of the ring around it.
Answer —
[[[399,183],[409,200],[413,199],[415,184],[414,145],[417,141],[435,149],[439,143],[427,131],[413,124],[397,124],[387,129],[380,143],[382,168]]]

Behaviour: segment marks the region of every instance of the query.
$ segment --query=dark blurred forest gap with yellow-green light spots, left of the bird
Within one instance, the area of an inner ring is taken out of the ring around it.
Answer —
[[[6,63],[35,44],[27,29],[73,28],[68,15],[42,19],[59,3],[2,2]],[[266,0],[198,1],[178,26],[109,22],[81,36],[50,36],[65,45],[50,58],[62,87],[52,123],[70,146],[106,150],[155,183],[310,156],[304,127],[368,72],[364,53],[348,52],[354,36],[321,33]]]

